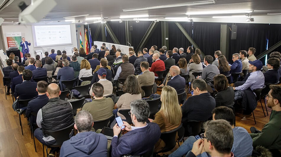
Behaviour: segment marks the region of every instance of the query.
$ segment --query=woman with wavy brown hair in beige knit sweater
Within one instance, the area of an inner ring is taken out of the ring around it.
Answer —
[[[119,97],[117,103],[115,104],[117,109],[113,110],[113,113],[116,117],[121,116],[122,119],[126,119],[125,116],[117,111],[122,109],[130,109],[130,102],[141,99],[141,93],[143,92],[135,75],[130,75],[127,77],[124,83],[123,92],[125,92],[125,94],[122,94]]]

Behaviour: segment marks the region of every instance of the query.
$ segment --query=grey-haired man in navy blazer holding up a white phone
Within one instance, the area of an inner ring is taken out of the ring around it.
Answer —
[[[125,154],[141,155],[154,148],[159,140],[161,132],[158,124],[146,123],[149,116],[149,105],[144,100],[134,100],[130,103],[130,115],[135,126],[123,121],[128,132],[118,139],[121,127],[117,124],[113,127],[111,156],[120,157]]]

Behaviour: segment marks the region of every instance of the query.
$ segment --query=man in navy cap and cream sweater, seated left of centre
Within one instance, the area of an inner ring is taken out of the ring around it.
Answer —
[[[111,72],[111,71],[110,71]],[[107,75],[107,71],[105,68],[100,68],[98,69],[98,71],[95,73],[98,75],[98,83],[102,84],[104,86],[104,97],[111,95],[112,91],[113,91],[113,86],[112,86],[112,82],[108,81],[106,79],[106,75]],[[92,95],[93,91],[92,88],[90,89],[90,95]]]

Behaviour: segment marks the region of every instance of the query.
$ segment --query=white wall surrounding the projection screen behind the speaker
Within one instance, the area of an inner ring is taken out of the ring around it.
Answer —
[[[31,42],[31,45],[28,46],[29,47],[29,53],[31,55],[31,57],[35,57],[34,55],[34,51],[36,50],[42,50],[42,52],[44,53],[45,51],[48,51],[49,54],[51,53],[51,49],[55,50],[55,53],[57,50],[61,50],[63,51],[63,49],[65,49],[66,47],[77,47],[77,39],[76,39],[76,28],[75,28],[75,24],[70,24],[70,31],[71,31],[71,40],[72,40],[72,44],[70,45],[61,45],[61,46],[53,46],[53,47],[36,47],[34,48],[33,45],[33,36],[32,36],[32,28],[31,25],[2,25],[2,32],[3,36],[4,36],[4,42],[5,42],[5,49],[8,49],[8,44],[7,44],[7,37],[6,37],[6,33],[9,32],[21,32],[22,33],[22,37],[25,37],[26,41]],[[81,32],[82,33],[82,32]],[[1,49],[1,48],[0,48]],[[21,50],[21,47],[20,47]],[[70,50],[70,52],[67,52],[67,55],[71,55],[72,52]],[[44,56],[44,55],[43,55]]]

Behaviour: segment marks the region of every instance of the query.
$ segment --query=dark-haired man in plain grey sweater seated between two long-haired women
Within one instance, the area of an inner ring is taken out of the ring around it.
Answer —
[[[199,78],[206,80],[208,85],[214,87],[214,84],[212,83],[213,78],[214,76],[219,74],[219,68],[212,63],[213,63],[213,57],[210,55],[206,55],[204,58],[204,64],[207,66],[203,68],[202,76]]]

